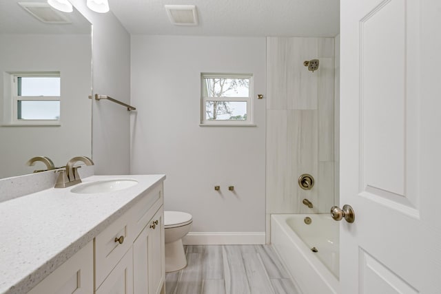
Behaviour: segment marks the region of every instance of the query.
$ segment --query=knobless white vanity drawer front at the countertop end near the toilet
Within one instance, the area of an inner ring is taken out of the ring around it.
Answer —
[[[163,183],[156,185],[152,191],[143,196],[141,201],[132,207],[130,217],[133,220],[134,239],[143,231],[147,223],[163,204]]]

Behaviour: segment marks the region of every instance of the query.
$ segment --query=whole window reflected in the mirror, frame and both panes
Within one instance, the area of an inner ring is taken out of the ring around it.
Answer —
[[[14,73],[10,125],[59,125],[59,72]]]

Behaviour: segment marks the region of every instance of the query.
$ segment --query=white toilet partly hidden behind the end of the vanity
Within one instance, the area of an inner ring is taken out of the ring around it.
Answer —
[[[181,211],[164,211],[165,272],[187,266],[182,238],[192,227],[192,215]]]

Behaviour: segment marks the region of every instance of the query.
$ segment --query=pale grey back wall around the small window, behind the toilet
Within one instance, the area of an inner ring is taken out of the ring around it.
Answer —
[[[166,174],[193,232],[264,232],[265,38],[135,35],[131,65],[131,173]],[[257,126],[200,127],[201,72],[253,73]]]

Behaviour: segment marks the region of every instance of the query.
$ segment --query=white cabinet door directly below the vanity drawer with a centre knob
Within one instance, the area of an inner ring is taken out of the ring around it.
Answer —
[[[133,294],[133,251],[125,253],[115,268],[105,278],[96,294]]]

